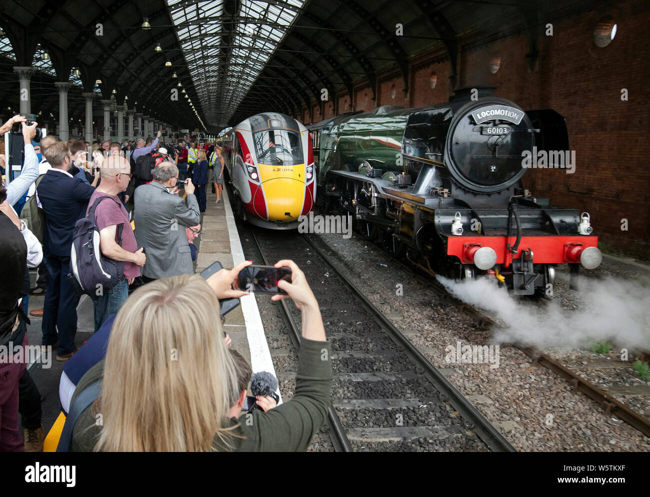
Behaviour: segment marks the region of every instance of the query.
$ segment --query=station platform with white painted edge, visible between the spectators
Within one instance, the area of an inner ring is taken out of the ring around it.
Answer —
[[[221,203],[214,203],[215,194],[207,187],[207,208],[201,214],[201,233],[194,240],[198,255],[194,262],[196,274],[210,266],[214,261],[222,263],[224,268],[232,268],[234,264],[244,261],[244,252],[237,233],[235,218],[230,207],[226,189]],[[31,273],[32,287],[36,281],[36,272]],[[29,310],[43,307],[44,296],[30,296]],[[29,316],[31,324],[27,326],[27,337],[32,345],[40,345],[42,341],[42,318]],[[77,335],[75,344],[82,347],[83,343],[92,336],[94,330],[92,299],[82,296],[77,305]],[[253,372],[268,371],[275,375],[264,327],[259,316],[259,309],[254,294],[240,299],[240,305],[226,316],[224,325],[226,333],[232,338],[231,348],[237,350],[251,364]],[[49,363],[43,364],[40,359],[29,364],[31,374],[42,396],[42,410],[45,433],[51,429],[60,413],[59,380],[65,363],[55,360],[56,351]],[[22,433],[22,428],[21,428]]]

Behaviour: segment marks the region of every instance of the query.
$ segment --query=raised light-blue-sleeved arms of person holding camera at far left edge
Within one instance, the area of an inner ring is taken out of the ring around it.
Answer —
[[[36,152],[32,146],[32,140],[40,142],[41,139],[40,130],[37,131],[36,128],[38,123],[36,121],[27,121],[23,116],[14,116],[0,127],[0,136],[4,136],[9,131],[18,134],[18,126],[16,125],[19,123],[22,127],[23,141],[25,143],[25,164],[20,175],[6,186],[6,201],[10,205],[18,202],[29,190],[29,186],[38,178],[38,157],[36,157]],[[7,164],[7,177],[10,168],[11,164]]]

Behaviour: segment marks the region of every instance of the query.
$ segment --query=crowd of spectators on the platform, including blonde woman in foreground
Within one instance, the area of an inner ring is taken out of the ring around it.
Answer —
[[[259,409],[248,406],[251,422],[240,416],[246,414],[242,406],[252,372],[229,349],[218,303],[245,295],[237,288],[238,275],[251,261],[207,280],[194,275],[193,242],[201,233],[209,183],[215,203],[221,201],[224,150],[183,140],[160,144],[158,133],[93,144],[45,136],[37,154],[37,123],[14,116],[0,132],[14,125],[21,127],[25,159],[21,173],[0,187],[0,257],[6,267],[0,347],[9,355],[16,346],[26,347],[28,314],[42,316],[42,352],[66,363],[62,406],[77,406],[80,413],[65,447],[305,450],[324,422],[331,386],[330,361],[322,360],[330,357],[323,353],[330,345],[305,275],[294,262],[279,261],[276,267],[291,267],[292,281],[279,281],[286,295],[272,297],[292,298],[303,314],[296,392],[277,407],[272,398],[258,397]],[[143,170],[147,174],[136,173]],[[118,268],[118,279],[106,291],[79,286],[73,238],[81,220],[90,220],[98,233],[93,240],[102,264]],[[30,268],[36,269],[35,286]],[[79,348],[82,293],[92,298],[94,335]],[[30,311],[29,296],[43,294],[44,307]],[[40,394],[25,366],[0,357],[0,452],[43,448]],[[92,389],[98,394],[82,409],[79,402],[88,395],[81,394]],[[103,424],[96,423],[98,413]]]

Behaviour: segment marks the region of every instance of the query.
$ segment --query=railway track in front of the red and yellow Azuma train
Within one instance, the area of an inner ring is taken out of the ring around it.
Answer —
[[[291,255],[318,299],[332,340],[335,450],[515,451],[307,236],[245,229],[265,264]],[[275,307],[297,348],[300,312],[291,301]],[[281,385],[291,381],[294,372],[278,369]]]

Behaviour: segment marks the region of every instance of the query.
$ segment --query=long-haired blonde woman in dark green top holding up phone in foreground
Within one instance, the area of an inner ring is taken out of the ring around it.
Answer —
[[[302,311],[296,391],[267,413],[238,419],[243,399],[224,343],[219,298],[233,290],[242,262],[207,281],[198,275],[159,279],[135,290],[118,312],[105,361],[79,381],[78,394],[99,379],[101,396],[79,416],[71,450],[106,452],[305,450],[327,414],[330,343],[318,303],[293,261],[292,281],[279,281]],[[272,300],[285,298],[274,295]],[[101,425],[97,420],[101,415]]]

